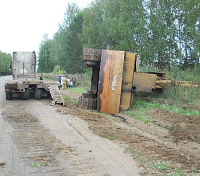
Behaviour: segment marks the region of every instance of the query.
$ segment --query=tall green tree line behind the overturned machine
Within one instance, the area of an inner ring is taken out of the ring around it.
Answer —
[[[39,72],[58,65],[83,72],[83,47],[138,53],[143,66],[194,68],[200,62],[199,0],[94,0],[87,8],[68,4],[53,39],[44,36]]]

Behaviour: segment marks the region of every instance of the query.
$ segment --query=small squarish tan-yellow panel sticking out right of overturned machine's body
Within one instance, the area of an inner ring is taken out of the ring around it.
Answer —
[[[134,73],[133,88],[136,92],[153,92],[156,87],[157,75]]]

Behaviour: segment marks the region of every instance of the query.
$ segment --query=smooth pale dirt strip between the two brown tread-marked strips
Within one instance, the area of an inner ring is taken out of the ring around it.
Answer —
[[[83,119],[70,112],[60,113],[62,106],[53,108],[41,103],[32,102],[29,106],[31,114],[37,116],[53,136],[75,149],[68,157],[77,175],[139,175],[135,161],[123,153],[123,148],[94,135]]]

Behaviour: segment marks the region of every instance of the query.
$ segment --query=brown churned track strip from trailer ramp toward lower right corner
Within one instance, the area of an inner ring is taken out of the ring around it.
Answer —
[[[200,171],[200,157],[195,155],[195,150],[191,152],[190,149],[184,150],[184,145],[177,147],[171,139],[165,136],[164,139],[145,134],[135,134],[138,129],[137,126],[130,127],[124,122],[115,122],[110,120],[107,115],[86,111],[79,108],[70,102],[66,102],[66,108],[60,108],[61,113],[69,113],[76,115],[89,123],[89,128],[103,138],[114,137],[116,141],[124,142],[129,146],[129,151],[132,150],[134,155],[135,151],[151,160],[151,163],[159,161],[170,162],[169,170],[171,172],[180,169],[185,173],[196,173]],[[81,115],[80,115],[81,114]],[[145,126],[144,126],[145,127]],[[145,131],[145,129],[143,129]],[[186,149],[186,148],[185,148]],[[198,150],[196,151],[198,153]],[[143,165],[145,167],[145,165]],[[147,167],[145,167],[147,169]],[[195,168],[195,171],[194,171]],[[146,170],[143,175],[156,175],[157,173],[152,170]]]

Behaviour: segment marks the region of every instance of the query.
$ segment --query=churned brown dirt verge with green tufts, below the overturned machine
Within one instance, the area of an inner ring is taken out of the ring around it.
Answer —
[[[79,96],[70,89],[63,94],[76,100]],[[199,116],[154,109],[146,111],[152,120],[145,124],[125,113],[97,114],[70,102],[58,109],[84,119],[99,136],[126,143],[126,151],[145,168],[142,175],[200,175]]]

